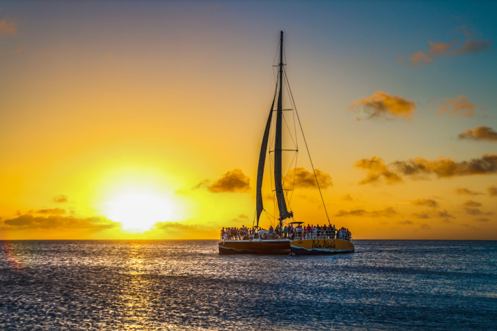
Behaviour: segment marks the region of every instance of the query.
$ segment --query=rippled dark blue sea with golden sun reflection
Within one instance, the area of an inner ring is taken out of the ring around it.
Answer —
[[[497,330],[497,241],[0,241],[4,330]]]

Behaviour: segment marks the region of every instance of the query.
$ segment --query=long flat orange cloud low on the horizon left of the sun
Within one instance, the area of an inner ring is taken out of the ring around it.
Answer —
[[[50,215],[47,217],[35,217],[24,214],[15,219],[6,219],[3,225],[7,230],[104,230],[117,228],[119,223],[110,221],[105,217],[87,217],[79,219],[73,216]]]

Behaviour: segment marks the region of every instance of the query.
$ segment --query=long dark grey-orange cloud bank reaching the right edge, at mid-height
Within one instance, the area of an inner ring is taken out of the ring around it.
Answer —
[[[449,178],[471,174],[495,174],[497,173],[497,154],[483,154],[478,159],[461,162],[443,157],[433,161],[417,157],[407,161],[395,161],[392,166],[400,174],[407,176],[436,174],[439,178]]]

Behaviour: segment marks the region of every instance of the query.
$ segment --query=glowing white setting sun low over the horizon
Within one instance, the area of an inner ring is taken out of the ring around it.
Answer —
[[[106,217],[121,223],[123,229],[130,232],[144,232],[153,228],[157,222],[175,219],[175,203],[153,193],[120,194],[105,205]]]

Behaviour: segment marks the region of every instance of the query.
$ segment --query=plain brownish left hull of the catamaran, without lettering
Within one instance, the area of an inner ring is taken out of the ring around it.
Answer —
[[[219,254],[289,254],[289,240],[220,241]]]

